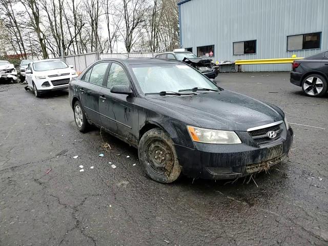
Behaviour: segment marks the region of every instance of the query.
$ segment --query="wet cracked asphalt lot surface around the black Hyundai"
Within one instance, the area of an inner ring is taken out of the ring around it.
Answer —
[[[328,96],[304,96],[289,73],[216,80],[308,125],[291,125],[290,161],[256,183],[162,185],[132,147],[98,129],[80,133],[67,91],[35,98],[1,84],[0,245],[328,245]]]

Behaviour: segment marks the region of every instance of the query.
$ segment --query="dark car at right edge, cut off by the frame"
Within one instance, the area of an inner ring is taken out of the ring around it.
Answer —
[[[328,83],[328,51],[295,60],[291,83],[301,86],[308,96],[323,96]]]

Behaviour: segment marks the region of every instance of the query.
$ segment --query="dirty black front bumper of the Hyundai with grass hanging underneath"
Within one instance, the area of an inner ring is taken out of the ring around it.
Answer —
[[[285,161],[293,142],[293,130],[271,145],[252,147],[213,145],[199,149],[175,145],[182,173],[204,179],[232,179],[251,175]],[[205,144],[203,144],[205,145]],[[209,151],[207,151],[207,149]]]

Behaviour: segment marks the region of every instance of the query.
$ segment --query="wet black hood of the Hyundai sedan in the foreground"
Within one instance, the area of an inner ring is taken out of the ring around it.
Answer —
[[[156,95],[147,99],[191,118],[203,128],[247,131],[283,120],[279,108],[226,90],[192,96]]]

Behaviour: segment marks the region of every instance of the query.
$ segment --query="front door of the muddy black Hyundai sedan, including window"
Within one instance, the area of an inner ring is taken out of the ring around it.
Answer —
[[[99,102],[101,125],[128,142],[136,142],[138,112],[133,105],[135,97],[110,92],[116,85],[131,86],[125,69],[113,62],[104,85],[106,88],[101,90]]]

